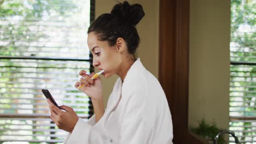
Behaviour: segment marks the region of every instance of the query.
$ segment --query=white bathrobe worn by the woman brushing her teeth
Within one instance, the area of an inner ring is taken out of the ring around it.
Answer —
[[[137,59],[124,82],[119,78],[104,115],[96,123],[79,118],[68,144],[172,144],[172,119],[159,81]]]

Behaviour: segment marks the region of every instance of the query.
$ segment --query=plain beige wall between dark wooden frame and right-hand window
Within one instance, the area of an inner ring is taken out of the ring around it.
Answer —
[[[189,125],[229,121],[230,1],[190,1]]]

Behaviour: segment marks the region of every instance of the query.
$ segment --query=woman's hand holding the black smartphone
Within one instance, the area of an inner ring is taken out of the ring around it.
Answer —
[[[59,129],[63,129],[65,131],[68,131],[69,133],[72,133],[75,124],[77,124],[77,121],[79,117],[77,116],[77,113],[74,112],[72,107],[68,107],[65,105],[59,107],[55,106],[49,99],[47,99],[47,103],[50,107],[51,112],[51,120],[57,125]],[[62,110],[65,111],[62,111]]]

